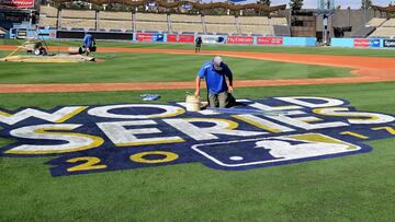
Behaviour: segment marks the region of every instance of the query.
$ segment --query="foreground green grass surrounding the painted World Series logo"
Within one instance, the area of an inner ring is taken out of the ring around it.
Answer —
[[[139,102],[147,92],[0,94],[1,107]],[[159,103],[183,91],[151,91]],[[395,114],[395,83],[238,89],[237,97],[345,98]],[[371,153],[244,172],[201,164],[52,177],[48,157],[0,159],[0,221],[394,221],[394,139]],[[7,141],[0,140],[4,144]]]

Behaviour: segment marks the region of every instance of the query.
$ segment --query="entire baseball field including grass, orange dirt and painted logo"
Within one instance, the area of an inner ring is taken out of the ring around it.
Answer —
[[[0,57],[18,44],[3,42]],[[49,47],[61,52],[79,44],[49,42]],[[98,47],[97,62],[0,62],[0,221],[395,220],[393,50],[204,45],[195,54],[181,44]],[[291,118],[249,113],[248,105],[237,115],[185,112],[177,103],[194,92],[199,69],[214,55],[234,72],[234,95],[247,101],[240,102],[298,108],[308,118],[297,116],[298,126]],[[142,101],[142,94],[160,98]],[[331,102],[337,104],[323,105]],[[101,109],[110,105],[124,107]],[[160,105],[179,113],[155,116]],[[78,112],[50,120],[50,114],[71,106]],[[262,121],[250,125],[251,115],[271,120],[271,130]],[[128,126],[121,129],[123,121]],[[193,121],[200,122],[193,128]],[[319,128],[320,121],[327,127]],[[226,130],[213,127],[221,122],[228,124]],[[26,132],[41,125],[46,128]],[[120,129],[112,136],[111,126]],[[326,139],[296,141],[295,135]],[[248,147],[260,137],[291,145],[336,140],[348,151],[274,161],[273,153],[258,156]],[[56,150],[81,138],[95,143]],[[142,142],[120,145],[116,138]],[[226,162],[240,156],[245,165]]]

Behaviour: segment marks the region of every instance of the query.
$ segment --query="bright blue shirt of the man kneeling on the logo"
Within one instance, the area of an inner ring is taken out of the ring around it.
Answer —
[[[223,70],[216,71],[212,61],[207,61],[198,73],[199,78],[205,79],[210,94],[218,94],[228,90],[225,77],[232,79],[232,71],[224,62],[221,63],[221,67]]]

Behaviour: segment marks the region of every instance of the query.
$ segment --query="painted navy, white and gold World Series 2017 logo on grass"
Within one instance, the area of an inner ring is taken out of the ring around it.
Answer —
[[[53,176],[202,163],[245,171],[366,153],[393,138],[394,116],[339,98],[239,100],[229,109],[184,103],[23,107],[0,110],[0,157],[53,156]]]

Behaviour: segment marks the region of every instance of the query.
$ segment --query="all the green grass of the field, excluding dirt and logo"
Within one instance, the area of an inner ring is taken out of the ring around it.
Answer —
[[[290,50],[256,48],[250,50]],[[221,49],[249,50],[235,46]],[[341,54],[340,49],[292,50]],[[342,50],[345,55],[354,56],[390,57],[393,54],[390,50]],[[149,54],[98,54],[98,57],[106,59],[98,65],[100,69],[94,65],[78,65],[78,68],[61,65],[54,70],[55,65],[0,63],[0,83],[189,81],[207,59],[204,56],[161,58]],[[347,69],[226,59],[236,79],[348,75]],[[185,66],[169,60],[182,61]],[[163,67],[171,67],[173,71],[163,71]],[[160,94],[158,103],[167,103],[183,101],[184,92],[0,94],[0,107],[142,103],[139,95],[143,93]],[[395,82],[235,91],[238,98],[292,95],[338,97],[350,101],[358,110],[395,114]],[[10,142],[0,139],[1,145]],[[395,140],[369,144],[373,151],[365,154],[240,172],[217,171],[193,163],[52,177],[50,166],[44,163],[53,157],[0,157],[0,221],[394,221]]]

